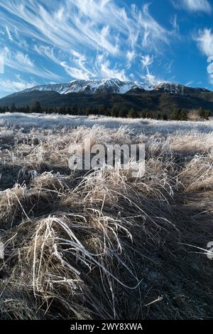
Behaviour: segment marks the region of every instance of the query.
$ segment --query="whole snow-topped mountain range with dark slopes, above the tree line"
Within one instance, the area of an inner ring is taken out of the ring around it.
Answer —
[[[176,83],[148,85],[119,79],[73,80],[70,83],[37,85],[0,99],[0,106],[33,105],[60,107],[77,104],[80,108],[136,108],[169,112],[173,106],[185,109],[204,108],[213,111],[213,92]]]

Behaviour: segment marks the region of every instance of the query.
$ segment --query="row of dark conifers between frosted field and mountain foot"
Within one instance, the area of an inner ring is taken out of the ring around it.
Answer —
[[[99,107],[89,107],[89,108],[79,108],[76,104],[66,107],[62,105],[58,108],[55,107],[41,107],[39,102],[35,102],[33,106],[23,106],[16,107],[15,103],[12,103],[11,107],[0,107],[0,113],[45,113],[54,114],[59,113],[61,115],[105,115],[115,118],[151,118],[155,120],[187,120],[188,113],[187,110],[177,108],[174,106],[172,108],[172,113],[161,113],[158,111],[151,111],[148,109],[136,110],[135,108],[121,108],[119,106],[114,106],[109,109],[106,105],[101,105]],[[211,112],[209,110],[204,110],[200,108],[197,110],[200,118],[209,119]]]

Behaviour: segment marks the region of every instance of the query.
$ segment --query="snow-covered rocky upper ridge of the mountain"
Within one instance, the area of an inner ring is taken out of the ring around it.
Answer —
[[[132,89],[153,90],[153,87],[147,83],[137,81],[121,81],[119,79],[96,79],[96,80],[73,80],[70,83],[58,83],[51,85],[37,85],[33,88],[23,90],[22,93],[28,93],[33,90],[52,90],[60,94],[67,93],[118,93],[125,94]]]

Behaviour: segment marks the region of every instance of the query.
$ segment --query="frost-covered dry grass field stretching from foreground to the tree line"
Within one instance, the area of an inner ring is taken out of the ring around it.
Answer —
[[[146,145],[146,173],[68,148]],[[0,318],[213,317],[213,121],[0,115]]]

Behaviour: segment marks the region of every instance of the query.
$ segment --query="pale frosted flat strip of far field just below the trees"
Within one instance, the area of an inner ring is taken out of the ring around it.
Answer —
[[[151,119],[131,119],[131,118],[109,118],[104,116],[70,116],[70,115],[43,115],[43,114],[22,114],[5,113],[0,114],[0,126],[18,126],[30,129],[31,127],[92,127],[93,125],[104,125],[109,128],[128,126],[135,132],[147,133],[173,133],[175,131],[198,131],[212,132],[213,119],[203,122],[190,121],[163,121]]]

